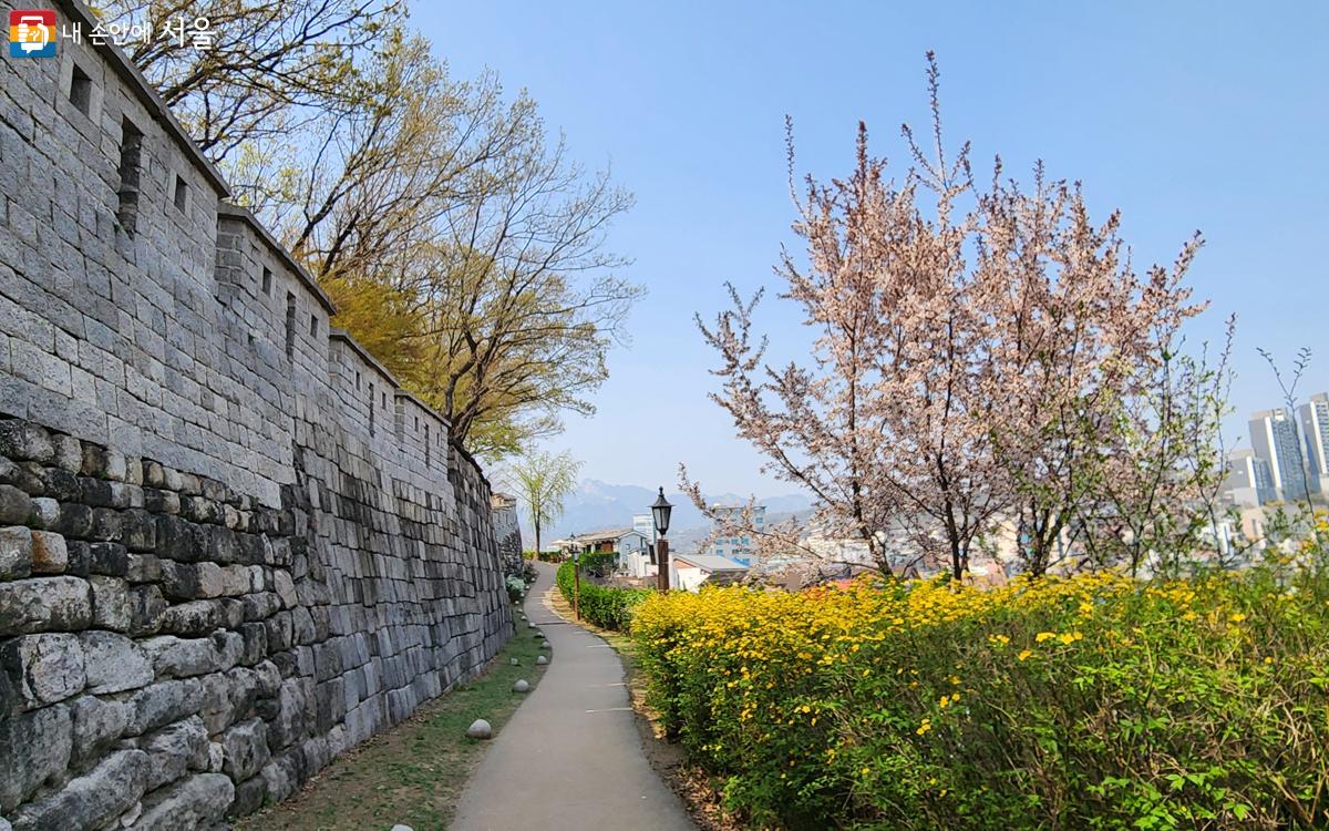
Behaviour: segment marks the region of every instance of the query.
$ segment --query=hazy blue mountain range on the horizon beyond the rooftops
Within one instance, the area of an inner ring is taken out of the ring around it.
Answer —
[[[552,528],[541,528],[541,540],[548,544],[550,540],[558,540],[571,533],[627,528],[633,524],[634,513],[650,512],[657,491],[641,485],[615,485],[595,479],[582,480],[563,503],[562,517]],[[707,520],[692,505],[692,500],[684,495],[666,492],[664,499],[674,504],[668,531],[674,549],[686,552],[695,548],[696,542],[706,536]],[[707,503],[726,505],[740,505],[747,503],[747,499],[735,493],[706,495]],[[793,513],[804,513],[812,507],[808,497],[797,493],[762,497],[758,503],[766,505],[767,517],[772,521],[787,519]],[[524,508],[525,505],[520,505],[518,511]],[[526,545],[536,544],[536,534],[525,516],[521,520],[521,532]]]

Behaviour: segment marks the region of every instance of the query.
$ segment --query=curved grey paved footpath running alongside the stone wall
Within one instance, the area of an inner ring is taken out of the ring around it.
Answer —
[[[556,569],[537,568],[525,609],[553,645],[549,669],[466,784],[453,831],[695,831],[642,753],[618,653],[545,606]],[[532,630],[518,622],[516,637]]]

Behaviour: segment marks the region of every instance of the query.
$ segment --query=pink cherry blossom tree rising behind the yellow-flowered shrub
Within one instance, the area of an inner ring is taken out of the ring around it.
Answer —
[[[1095,225],[1078,185],[1042,165],[1026,187],[998,158],[978,187],[969,145],[948,157],[930,53],[928,65],[932,136],[925,150],[902,128],[913,165],[898,183],[860,124],[853,173],[795,194],[805,258],[785,253],[777,271],[781,299],[819,332],[811,360],[769,366],[754,334],[762,293],[731,286],[732,308],[698,318],[720,358],[712,399],[767,472],[816,497],[813,523],[861,541],[880,570],[962,578],[975,546],[1013,525],[1041,572],[1102,508],[1123,408],[1203,308],[1181,285],[1200,238],[1140,277],[1119,215]],[[754,529],[720,533],[734,531]]]

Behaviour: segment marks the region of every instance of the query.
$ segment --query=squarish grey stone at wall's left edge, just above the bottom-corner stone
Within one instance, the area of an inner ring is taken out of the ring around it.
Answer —
[[[72,734],[65,705],[0,719],[0,811],[12,811],[69,767]]]

